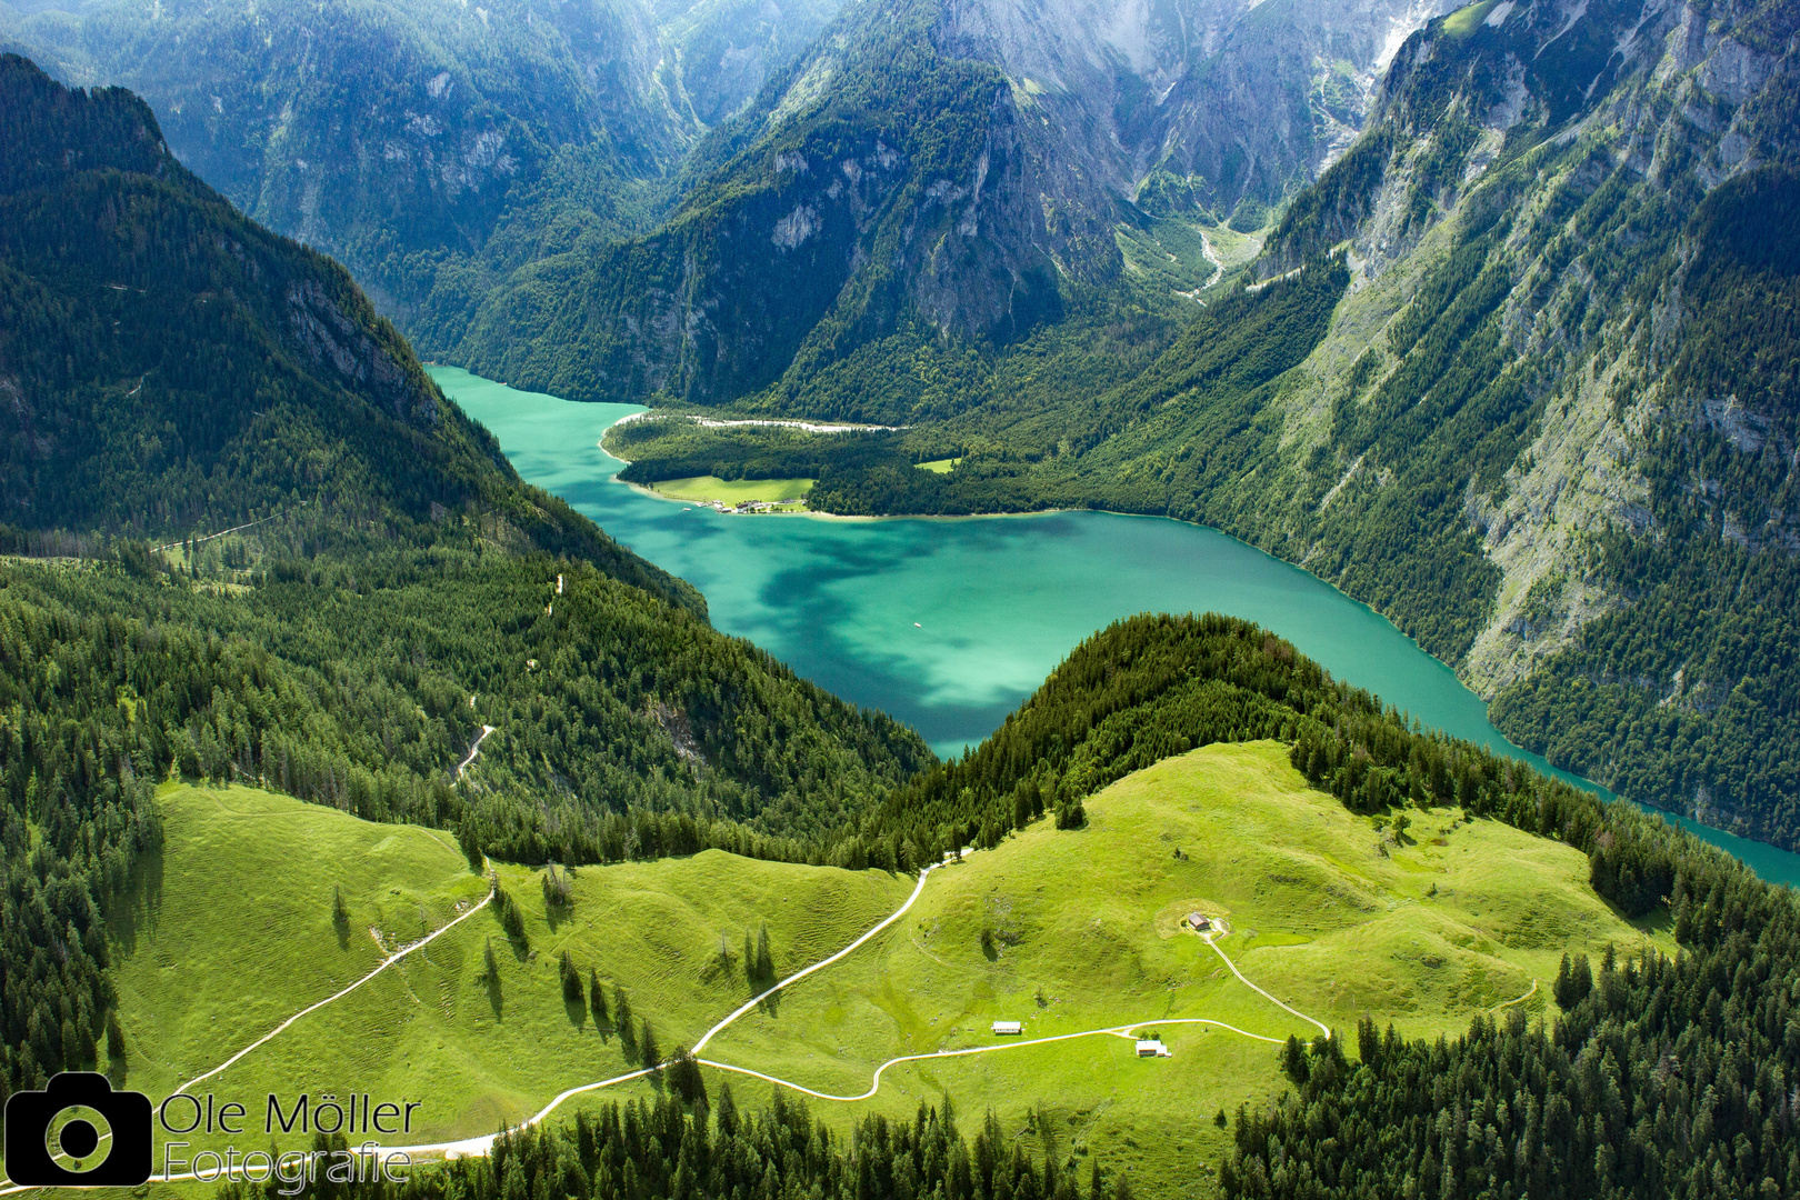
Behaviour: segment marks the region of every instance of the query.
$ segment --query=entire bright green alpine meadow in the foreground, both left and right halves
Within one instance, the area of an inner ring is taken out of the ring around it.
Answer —
[[[124,1081],[153,1097],[484,894],[437,831],[247,788],[162,799],[167,849],[148,901],[119,925],[117,972]],[[1271,1038],[1312,1027],[1183,932],[1188,910],[1226,918],[1220,946],[1249,979],[1341,1031],[1372,1013],[1408,1034],[1456,1033],[1532,981],[1543,986],[1523,1007],[1541,1013],[1564,948],[1674,948],[1595,898],[1577,851],[1499,824],[1413,813],[1418,840],[1384,855],[1373,822],[1309,790],[1273,743],[1165,761],[1093,797],[1087,813],[1085,829],[1039,822],[936,873],[902,921],[745,1016],[707,1058],[857,1094],[889,1058],[994,1043],[988,1025],[1001,1018],[1022,1020],[1026,1038],[1150,1022],[1174,1058],[1143,1061],[1121,1038],[1082,1038],[900,1065],[873,1101],[812,1106],[850,1124],[871,1110],[909,1117],[949,1094],[968,1117],[992,1106],[1033,1150],[1048,1135],[1076,1157],[1130,1166],[1145,1195],[1204,1195],[1228,1144],[1211,1115],[1280,1090],[1274,1047],[1154,1022],[1204,1016]],[[607,981],[614,1006],[623,984],[666,1052],[751,995],[747,932],[767,923],[785,975],[853,941],[911,891],[878,873],[707,851],[581,867],[572,909],[558,912],[540,871],[497,873],[529,945],[508,943],[484,910],[211,1079],[203,1090],[221,1101],[254,1101],[239,1148],[268,1144],[268,1092],[421,1101],[416,1142],[488,1133],[630,1067],[617,1033],[563,1002],[563,950],[583,981],[589,970]],[[335,891],[347,928],[333,923]],[[707,1076],[716,1088],[722,1072]],[[752,1103],[769,1090],[742,1076],[733,1087]]]

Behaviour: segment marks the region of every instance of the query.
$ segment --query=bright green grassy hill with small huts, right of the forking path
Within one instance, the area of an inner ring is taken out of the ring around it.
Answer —
[[[1085,1038],[905,1063],[869,1103],[904,1115],[949,1092],[1010,1128],[1042,1103],[1064,1146],[1168,1184],[1195,1151],[1217,1162],[1229,1144],[1204,1117],[1271,1097],[1280,1078],[1267,1043],[1156,1022],[1318,1033],[1181,932],[1193,909],[1228,918],[1219,946],[1244,975],[1339,1033],[1373,1016],[1409,1036],[1454,1034],[1526,995],[1525,1011],[1548,1015],[1564,952],[1645,939],[1674,950],[1593,894],[1573,847],[1465,824],[1454,808],[1411,813],[1411,844],[1384,844],[1373,819],[1309,788],[1276,743],[1165,759],[1085,808],[1085,829],[1040,820],[936,873],[878,945],[796,984],[706,1056],[853,1096],[887,1058],[995,1042],[994,1020],[1022,1020],[1026,1038],[1148,1022],[1174,1058],[1139,1061],[1123,1040]]]

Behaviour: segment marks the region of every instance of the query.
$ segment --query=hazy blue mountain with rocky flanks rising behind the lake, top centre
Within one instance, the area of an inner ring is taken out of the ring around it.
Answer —
[[[931,390],[918,356],[1091,317],[1168,263],[1211,275],[1202,225],[1255,230],[1309,182],[1431,11],[850,5],[700,144],[666,225],[520,272],[457,358],[576,399],[776,385],[765,403],[824,412],[887,387],[893,416]]]

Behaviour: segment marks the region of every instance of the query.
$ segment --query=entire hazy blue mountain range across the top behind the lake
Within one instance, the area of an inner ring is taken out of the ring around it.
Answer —
[[[914,317],[1019,336],[1067,281],[1114,279],[1147,214],[1260,227],[1440,2],[119,0],[0,5],[0,49],[140,92],[189,167],[342,259],[427,356],[720,401]],[[792,304],[733,308],[733,279],[796,263]]]

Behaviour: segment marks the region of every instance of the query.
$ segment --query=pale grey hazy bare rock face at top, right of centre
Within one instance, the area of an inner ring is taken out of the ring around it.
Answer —
[[[1139,196],[1174,176],[1229,216],[1350,144],[1409,32],[1453,0],[958,0],[945,41],[999,65],[1060,158]]]

